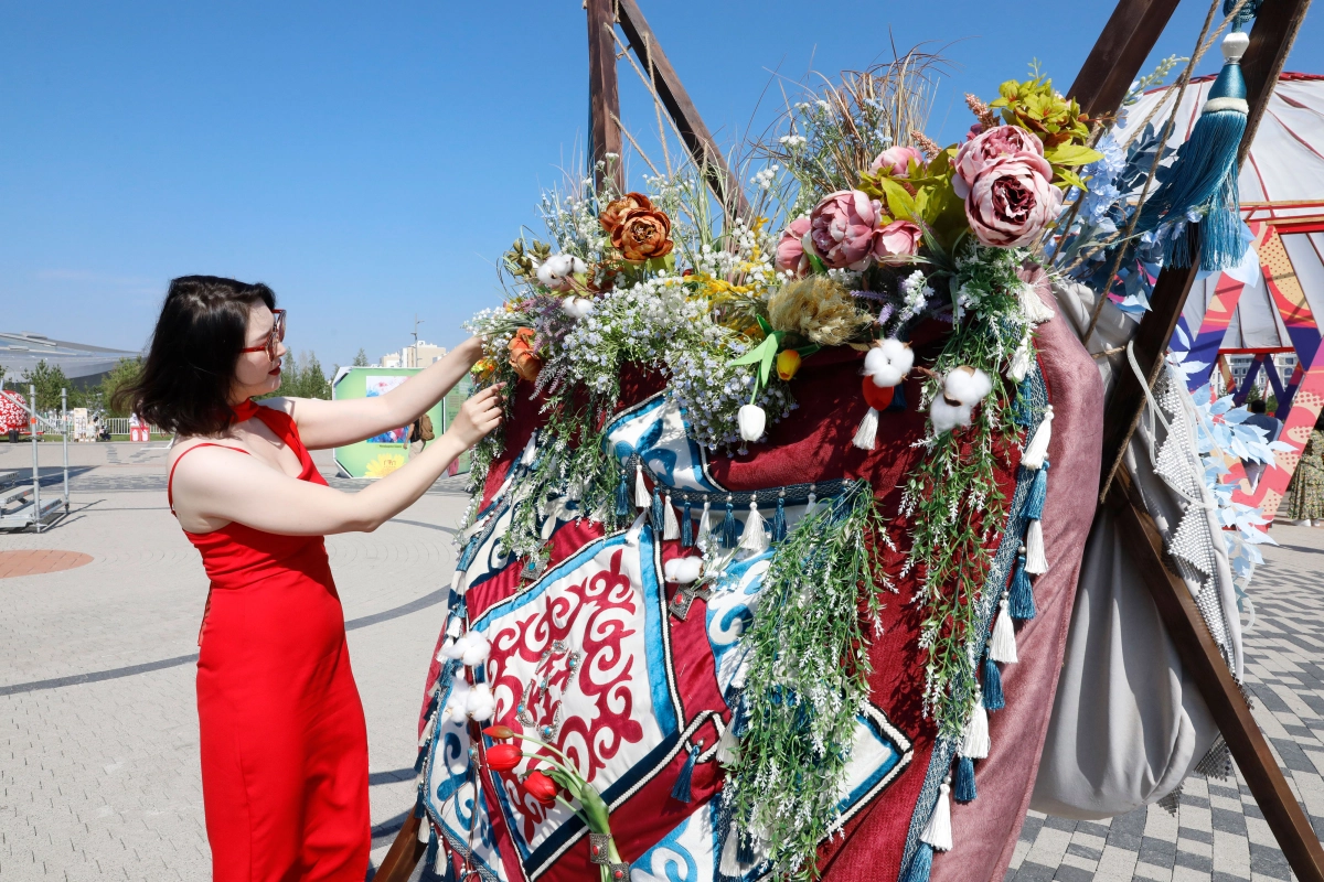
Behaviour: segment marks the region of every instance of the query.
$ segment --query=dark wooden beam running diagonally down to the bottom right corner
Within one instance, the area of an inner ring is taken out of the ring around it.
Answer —
[[[1200,688],[1292,871],[1301,882],[1324,882],[1324,848],[1278,767],[1196,599],[1186,583],[1165,566],[1162,534],[1145,512],[1144,500],[1125,469],[1112,483],[1106,505],[1117,518],[1119,537],[1128,554],[1140,565],[1145,587],[1158,607],[1182,668]]]

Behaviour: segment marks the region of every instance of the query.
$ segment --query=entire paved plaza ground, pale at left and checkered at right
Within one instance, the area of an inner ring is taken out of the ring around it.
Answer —
[[[166,506],[162,444],[70,450],[71,514],[40,536],[0,534],[5,551],[91,557],[0,579],[0,879],[205,879],[193,661],[207,579]],[[42,455],[53,465],[60,452]],[[26,446],[0,443],[0,471],[29,465]],[[458,481],[442,481],[376,533],[327,542],[368,721],[375,860],[413,799],[414,722],[465,504]],[[1324,530],[1275,537],[1283,547],[1266,551],[1253,586],[1247,682],[1324,833]],[[1009,878],[1290,874],[1245,784],[1193,778],[1176,817],[1031,813]]]

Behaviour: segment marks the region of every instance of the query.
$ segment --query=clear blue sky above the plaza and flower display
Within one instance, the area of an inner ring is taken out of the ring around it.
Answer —
[[[961,94],[992,98],[1035,57],[1066,89],[1112,11],[641,5],[724,143],[780,104],[771,71],[859,69],[920,42],[952,61],[928,131],[955,140]],[[1155,60],[1189,54],[1206,9],[1182,3]],[[399,349],[416,313],[451,345],[499,301],[495,261],[583,141],[587,65],[579,0],[7,3],[0,331],[138,349],[167,282],[207,272],[273,286],[287,342],[328,369]],[[1324,13],[1287,66],[1324,73]],[[620,78],[626,124],[655,131],[624,61]]]

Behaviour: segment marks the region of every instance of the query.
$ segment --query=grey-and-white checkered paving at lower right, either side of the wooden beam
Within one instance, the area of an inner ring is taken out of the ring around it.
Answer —
[[[1280,547],[1260,546],[1266,565],[1250,594],[1256,620],[1246,633],[1246,684],[1255,719],[1315,833],[1324,837],[1324,530],[1276,526]],[[1005,882],[1030,879],[1294,879],[1241,772],[1234,780],[1186,779],[1177,815],[1157,805],[1103,821],[1030,812]],[[1127,830],[1123,833],[1123,830]],[[1143,836],[1136,836],[1136,832]],[[1080,832],[1104,840],[1098,854]],[[1070,833],[1070,840],[1063,840]],[[1042,842],[1041,842],[1042,840]],[[1063,841],[1070,841],[1064,849]],[[1096,861],[1091,870],[1090,860]]]

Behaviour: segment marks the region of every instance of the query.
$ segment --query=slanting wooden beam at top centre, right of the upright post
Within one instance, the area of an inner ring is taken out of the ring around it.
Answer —
[[[589,1],[592,3],[592,0]],[[685,141],[686,149],[690,151],[694,164],[704,169],[708,186],[730,212],[737,217],[748,217],[749,204],[745,201],[744,188],[727,168],[727,161],[722,156],[718,143],[712,139],[708,127],[703,124],[703,118],[699,116],[698,108],[690,100],[690,94],[681,85],[681,77],[675,73],[666,53],[662,52],[662,45],[649,26],[647,19],[643,17],[639,4],[636,0],[618,0],[618,5],[621,30],[625,32],[630,49],[639,60],[639,66],[645,71],[653,71],[653,87],[657,90],[662,106],[666,107],[666,112],[675,122],[675,127],[681,131],[681,139]]]

